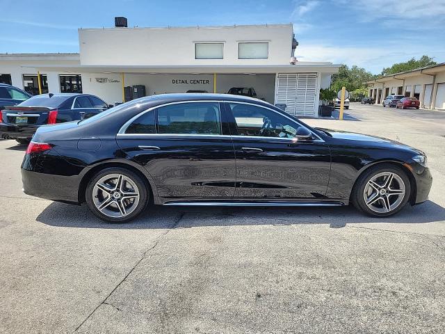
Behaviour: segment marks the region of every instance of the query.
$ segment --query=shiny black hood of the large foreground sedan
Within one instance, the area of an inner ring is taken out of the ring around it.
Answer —
[[[343,141],[343,143],[362,146],[372,146],[372,147],[381,147],[381,148],[400,148],[403,150],[410,150],[412,152],[416,152],[418,154],[424,154],[421,150],[417,150],[416,148],[412,148],[409,145],[405,145],[403,143],[399,143],[398,141],[392,141],[388,138],[382,138],[378,136],[371,136],[369,134],[357,134],[355,132],[346,132],[332,129],[320,129],[322,132],[327,132],[332,136],[332,138],[339,139]]]

